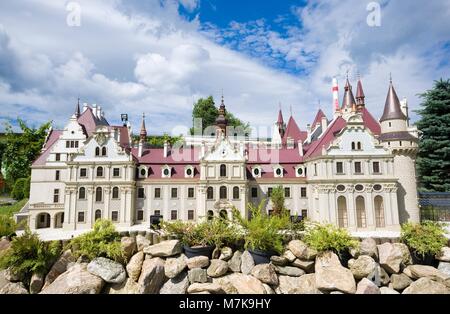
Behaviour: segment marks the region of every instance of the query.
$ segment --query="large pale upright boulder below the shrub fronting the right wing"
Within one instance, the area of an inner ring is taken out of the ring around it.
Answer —
[[[352,272],[341,265],[336,254],[325,252],[317,256],[315,270],[316,286],[320,291],[356,292]]]

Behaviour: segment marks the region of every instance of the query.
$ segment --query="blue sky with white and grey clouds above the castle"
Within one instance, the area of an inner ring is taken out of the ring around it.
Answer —
[[[417,94],[450,77],[450,2],[78,0],[0,2],[0,124],[17,117],[63,127],[77,97],[111,122],[142,112],[149,132],[189,128],[192,103],[224,91],[227,107],[252,126],[271,126],[281,103],[302,129],[320,107],[331,117],[331,79],[361,74],[379,118],[389,73],[411,112]],[[424,23],[423,21],[426,21]],[[412,113],[413,121],[417,116]],[[0,130],[2,126],[0,126]]]

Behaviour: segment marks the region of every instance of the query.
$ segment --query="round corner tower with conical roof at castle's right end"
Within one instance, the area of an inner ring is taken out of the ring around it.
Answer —
[[[379,140],[394,157],[393,171],[398,178],[397,199],[400,223],[419,222],[416,154],[418,138],[408,130],[407,111],[402,111],[392,80],[380,119]]]

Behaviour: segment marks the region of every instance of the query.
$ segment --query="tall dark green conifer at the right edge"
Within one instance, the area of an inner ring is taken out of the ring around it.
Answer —
[[[435,81],[421,95],[423,109],[417,127],[419,142],[417,168],[424,191],[450,192],[450,80]]]

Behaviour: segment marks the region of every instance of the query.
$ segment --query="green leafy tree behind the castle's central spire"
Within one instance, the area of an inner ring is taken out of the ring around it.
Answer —
[[[192,110],[192,119],[202,119],[202,134],[203,131],[207,127],[214,126],[216,123],[216,118],[219,115],[219,110],[214,103],[214,98],[209,96],[208,98],[200,98],[197,103],[194,105]],[[238,118],[236,118],[231,112],[226,113],[225,116],[228,120],[228,126],[233,126],[235,128],[242,127],[245,132],[249,132],[250,124],[244,123]],[[195,127],[191,129],[191,134],[194,132],[199,132],[200,130],[196,130]]]

